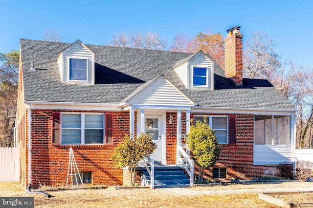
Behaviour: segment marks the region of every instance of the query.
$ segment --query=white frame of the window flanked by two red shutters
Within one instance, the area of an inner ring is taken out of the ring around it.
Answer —
[[[80,114],[80,128],[62,128],[63,114]],[[103,128],[87,128],[87,129],[103,129],[103,143],[85,144],[85,115],[103,115]],[[61,145],[105,145],[105,113],[76,113],[76,112],[61,112],[60,115],[60,144]],[[62,129],[80,129],[80,143],[62,143]]]

